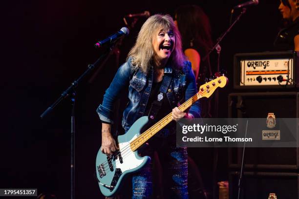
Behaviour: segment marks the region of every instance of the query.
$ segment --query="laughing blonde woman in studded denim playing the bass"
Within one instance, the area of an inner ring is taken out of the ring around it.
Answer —
[[[167,78],[168,76],[168,78]],[[161,95],[161,85],[167,85],[166,95]],[[97,113],[102,121],[102,152],[110,156],[117,150],[111,135],[113,103],[120,92],[128,89],[128,105],[123,113],[122,126],[125,132],[140,117],[149,115],[159,120],[172,112],[172,121],[149,141],[142,155],[152,156],[158,152],[163,167],[165,191],[170,198],[188,198],[188,162],[186,148],[176,147],[175,121],[181,118],[200,117],[199,102],[195,102],[189,113],[177,106],[197,93],[191,62],[185,61],[181,36],[171,16],[151,16],[142,26],[136,43],[130,50],[127,62],[117,71],[104,95]],[[163,99],[161,99],[163,97]],[[162,108],[157,112],[152,103],[160,99]],[[157,112],[156,114],[153,113]],[[153,119],[152,119],[153,118]],[[162,158],[163,157],[163,158]],[[150,198],[153,184],[151,162],[132,177],[132,198]]]

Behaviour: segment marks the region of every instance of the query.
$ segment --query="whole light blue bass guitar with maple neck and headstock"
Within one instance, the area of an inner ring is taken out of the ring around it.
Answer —
[[[178,108],[185,111],[200,98],[209,98],[218,87],[228,83],[225,76],[220,76],[200,86],[199,92],[185,101]],[[137,119],[125,135],[118,136],[119,150],[111,157],[99,150],[96,158],[96,176],[104,196],[111,197],[117,193],[124,177],[141,169],[149,156],[140,157],[137,149],[154,136],[160,129],[171,122],[171,113],[155,123],[148,130],[141,132],[149,121],[148,116]]]

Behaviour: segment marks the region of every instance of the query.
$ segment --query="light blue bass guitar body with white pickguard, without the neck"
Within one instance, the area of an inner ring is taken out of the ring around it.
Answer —
[[[96,158],[96,173],[99,187],[104,196],[116,194],[121,181],[130,173],[141,169],[149,156],[140,157],[138,151],[132,151],[130,142],[141,134],[141,129],[149,121],[147,116],[136,120],[125,135],[118,136],[119,151],[110,159],[99,150]]]

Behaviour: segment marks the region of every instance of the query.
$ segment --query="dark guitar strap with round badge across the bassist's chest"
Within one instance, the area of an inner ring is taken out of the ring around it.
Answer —
[[[171,74],[166,74],[163,78],[162,84],[160,86],[159,94],[157,96],[157,100],[154,100],[151,104],[151,108],[149,111],[149,120],[153,120],[158,115],[158,112],[160,111],[163,100],[166,98],[166,93],[169,88],[170,82],[172,79]]]

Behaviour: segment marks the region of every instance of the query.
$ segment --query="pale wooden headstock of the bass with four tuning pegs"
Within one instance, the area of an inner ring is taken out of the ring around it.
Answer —
[[[203,98],[203,97],[206,97],[206,98],[209,98],[213,93],[214,91],[220,87],[220,88],[223,88],[224,86],[226,86],[228,83],[228,79],[227,77],[225,76],[220,76],[214,80],[211,80],[203,85],[201,85],[199,87],[199,92],[198,94]]]

